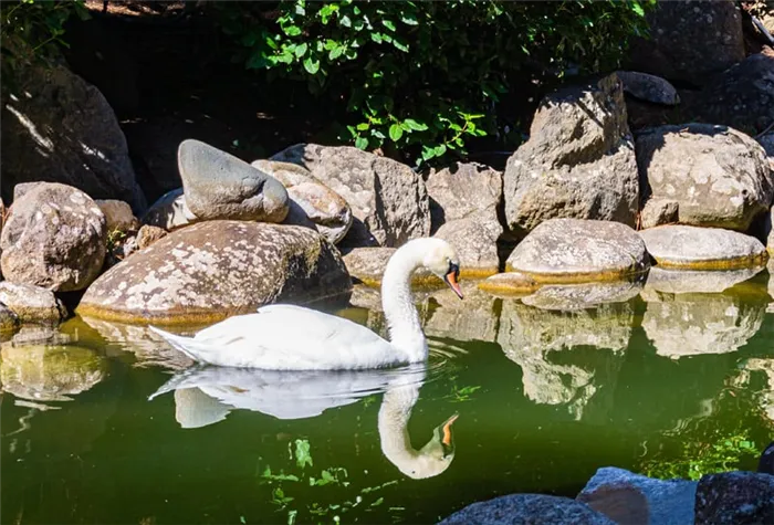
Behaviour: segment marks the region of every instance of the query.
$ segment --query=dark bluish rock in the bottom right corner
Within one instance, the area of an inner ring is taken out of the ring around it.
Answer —
[[[697,490],[695,523],[774,523],[774,476],[755,472],[724,472],[702,476]]]

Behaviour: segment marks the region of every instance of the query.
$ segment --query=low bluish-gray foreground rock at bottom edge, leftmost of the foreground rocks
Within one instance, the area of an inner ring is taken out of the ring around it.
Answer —
[[[511,494],[473,503],[439,525],[615,525],[606,516],[568,497]]]

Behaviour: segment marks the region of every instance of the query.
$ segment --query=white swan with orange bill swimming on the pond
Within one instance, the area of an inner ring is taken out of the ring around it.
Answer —
[[[195,337],[150,327],[190,358],[217,366],[268,370],[356,370],[421,363],[427,339],[411,300],[411,274],[420,266],[462,298],[454,249],[440,239],[416,239],[398,249],[381,281],[387,342],[348,319],[293,305],[262,306],[210,326]]]

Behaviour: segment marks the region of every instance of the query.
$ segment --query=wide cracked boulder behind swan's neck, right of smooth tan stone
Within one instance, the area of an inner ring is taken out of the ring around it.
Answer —
[[[342,196],[355,216],[343,245],[391,246],[430,234],[430,202],[421,177],[395,160],[353,147],[299,144],[271,160],[297,164]]]

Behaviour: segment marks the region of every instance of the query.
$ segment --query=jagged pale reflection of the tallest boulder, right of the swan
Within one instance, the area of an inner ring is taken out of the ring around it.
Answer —
[[[522,368],[524,395],[536,403],[564,405],[575,419],[619,366],[618,355],[629,344],[634,324],[629,303],[603,304],[596,308],[541,309],[515,300],[504,300],[498,343],[505,356]],[[583,363],[578,347],[607,349],[602,364]],[[576,359],[583,364],[557,363]],[[614,359],[613,366],[605,363]]]

